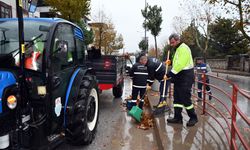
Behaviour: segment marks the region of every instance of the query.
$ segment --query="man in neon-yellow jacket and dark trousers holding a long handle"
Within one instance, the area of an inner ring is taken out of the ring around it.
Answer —
[[[174,83],[174,118],[168,118],[168,123],[182,124],[182,109],[185,108],[189,116],[187,126],[194,126],[198,122],[194,105],[191,101],[191,88],[194,83],[194,64],[190,48],[180,41],[177,34],[169,37],[170,45],[175,49],[171,71],[164,77],[172,78]]]

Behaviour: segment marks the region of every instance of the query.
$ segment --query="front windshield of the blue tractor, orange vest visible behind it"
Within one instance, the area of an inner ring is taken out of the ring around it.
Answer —
[[[41,71],[42,55],[50,22],[24,21],[25,68]],[[19,66],[19,35],[17,19],[0,19],[1,67]],[[3,66],[5,65],[5,66]]]

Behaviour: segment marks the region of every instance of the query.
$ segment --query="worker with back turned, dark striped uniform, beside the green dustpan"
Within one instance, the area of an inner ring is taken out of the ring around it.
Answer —
[[[142,109],[144,104],[144,94],[147,88],[147,78],[148,71],[147,67],[140,63],[135,63],[129,75],[132,78],[132,99],[127,102],[127,109],[130,110],[133,106],[136,105],[137,97],[140,95],[139,107]]]

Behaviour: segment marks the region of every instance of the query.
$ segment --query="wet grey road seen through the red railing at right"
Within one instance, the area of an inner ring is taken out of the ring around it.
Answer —
[[[245,76],[237,76],[237,75],[227,75],[227,74],[219,74],[220,78],[224,78],[226,80],[230,80],[230,82],[233,82],[234,84],[237,84],[240,89],[243,89],[246,94],[250,94],[250,77]],[[217,97],[219,100],[221,100],[230,111],[232,111],[232,100],[229,97],[232,97],[232,91],[233,86],[231,84],[228,84],[227,82],[220,81],[218,79],[211,79],[211,84],[217,85],[219,89],[225,91],[228,93],[228,96],[223,94],[222,92],[219,92],[215,88],[211,88],[213,96]],[[250,99],[246,96],[243,96],[239,92],[236,94],[237,96],[237,106],[239,107],[240,111],[247,116],[247,118],[250,117]],[[219,103],[217,100],[213,100],[215,102],[215,106],[218,108],[222,114],[227,116],[228,121],[231,123],[231,117],[229,113],[226,111],[225,107]],[[218,119],[221,119],[220,115],[217,115]],[[242,119],[242,117],[239,115],[239,113],[236,114],[236,125],[239,128],[240,132],[243,134],[243,137],[247,140],[247,142],[250,141],[250,128],[249,125]],[[239,149],[241,149],[240,147]]]

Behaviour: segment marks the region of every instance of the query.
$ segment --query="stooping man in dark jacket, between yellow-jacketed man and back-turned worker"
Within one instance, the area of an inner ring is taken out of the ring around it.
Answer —
[[[160,82],[160,99],[159,103],[156,106],[156,110],[154,114],[161,114],[165,111],[170,110],[169,106],[166,102],[166,95],[167,95],[167,85],[165,88],[165,95],[163,95],[163,86],[164,86],[164,80],[163,77],[165,75],[165,64],[160,62],[156,58],[148,58],[147,56],[141,56],[140,63],[144,64],[148,68],[148,85],[151,86],[155,79],[157,79]]]

